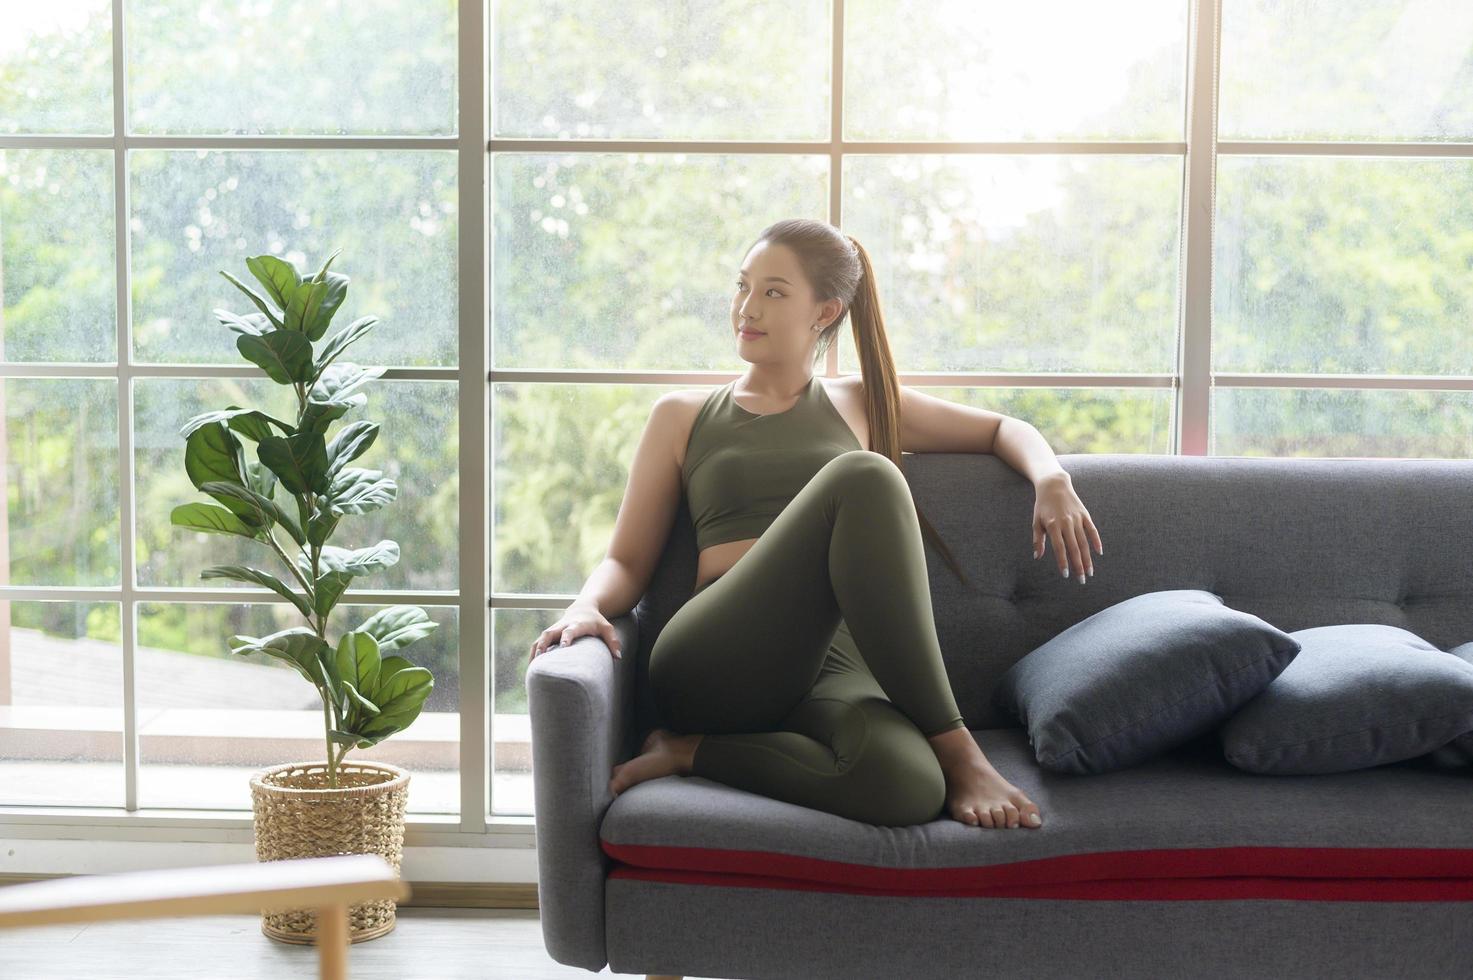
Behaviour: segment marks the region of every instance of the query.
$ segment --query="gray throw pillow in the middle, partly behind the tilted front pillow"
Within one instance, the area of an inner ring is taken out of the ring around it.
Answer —
[[[1380,623],[1289,634],[1304,647],[1218,732],[1239,769],[1346,772],[1426,755],[1473,729],[1473,665]]]

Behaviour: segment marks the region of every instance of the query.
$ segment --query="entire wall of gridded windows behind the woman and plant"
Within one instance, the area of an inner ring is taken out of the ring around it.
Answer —
[[[271,396],[211,315],[250,253],[343,248],[343,312],[389,327],[373,531],[405,560],[345,615],[442,622],[436,701],[379,747],[411,843],[526,830],[527,648],[654,399],[742,370],[731,287],[778,218],[865,243],[904,385],[1056,452],[1473,455],[1469,4],[280,7],[0,37],[0,821],[239,821],[318,734],[299,678],[224,653],[281,603],[202,588],[217,542],[166,520],[178,424]]]

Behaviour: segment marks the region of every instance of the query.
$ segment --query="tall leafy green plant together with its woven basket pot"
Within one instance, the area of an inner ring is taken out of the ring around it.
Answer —
[[[349,281],[328,271],[334,258],[337,252],[311,279],[274,255],[247,258],[246,268],[265,295],[221,270],[256,309],[245,315],[215,309],[217,318],[237,335],[242,357],[292,388],[296,417],[287,421],[227,405],[190,419],[180,430],[184,469],[215,503],[183,504],[169,519],[189,531],[259,544],[264,556],[284,566],[284,579],[242,564],[212,566],[200,578],[265,587],[305,620],[268,637],[230,637],[231,653],[284,660],[323,700],[327,757],[280,765],[250,778],[256,858],[379,853],[398,871],[409,775],[387,763],[343,757],[354,747],[367,749],[404,731],[418,716],[435,678],[398,651],[429,635],[436,623],[417,606],[392,606],[336,641],[327,635],[327,619],[349,584],[399,560],[393,541],[361,548],[328,544],[345,516],[379,510],[398,495],[396,483],[380,470],[349,466],[374,444],[379,423],[342,419],[364,405],[367,396],[358,389],[383,368],[340,360],[377,317],[361,317],[327,336]],[[340,427],[328,436],[333,423]],[[374,939],[393,928],[395,903],[354,905],[349,918],[352,942]],[[311,943],[315,914],[264,912],[262,931]]]

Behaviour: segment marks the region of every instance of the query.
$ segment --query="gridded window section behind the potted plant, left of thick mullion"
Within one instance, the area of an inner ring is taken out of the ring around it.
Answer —
[[[362,389],[355,417],[383,429],[355,464],[399,494],[345,519],[334,544],[392,538],[402,557],[354,581],[330,635],[395,603],[439,625],[408,651],[436,678],[423,713],[351,757],[411,769],[411,824],[485,830],[486,780],[463,780],[486,755],[474,750],[485,671],[467,653],[485,643],[486,601],[485,575],[460,557],[476,532],[463,528],[461,472],[465,457],[477,472],[485,424],[461,413],[486,380],[483,292],[463,309],[458,32],[452,1],[7,6],[0,819],[134,811],[242,825],[253,769],[321,757],[317,693],[227,647],[300,615],[265,589],[200,579],[209,564],[278,569],[259,545],[183,531],[169,511],[203,500],[184,470],[187,419],[230,404],[296,411],[217,321],[217,308],[252,309],[221,270],[255,284],[249,255],[311,273],[340,249],[333,270],[352,283],[333,327],[379,317],[346,360],[387,368]],[[479,60],[470,77],[483,78]],[[470,225],[479,239],[483,221]],[[483,498],[483,480],[471,492]]]

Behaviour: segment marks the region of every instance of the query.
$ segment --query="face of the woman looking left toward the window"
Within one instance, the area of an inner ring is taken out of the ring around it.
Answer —
[[[787,245],[753,246],[732,290],[732,332],[736,351],[747,361],[812,358],[819,337],[813,324],[826,327],[844,308],[838,299],[815,302],[797,255]]]

